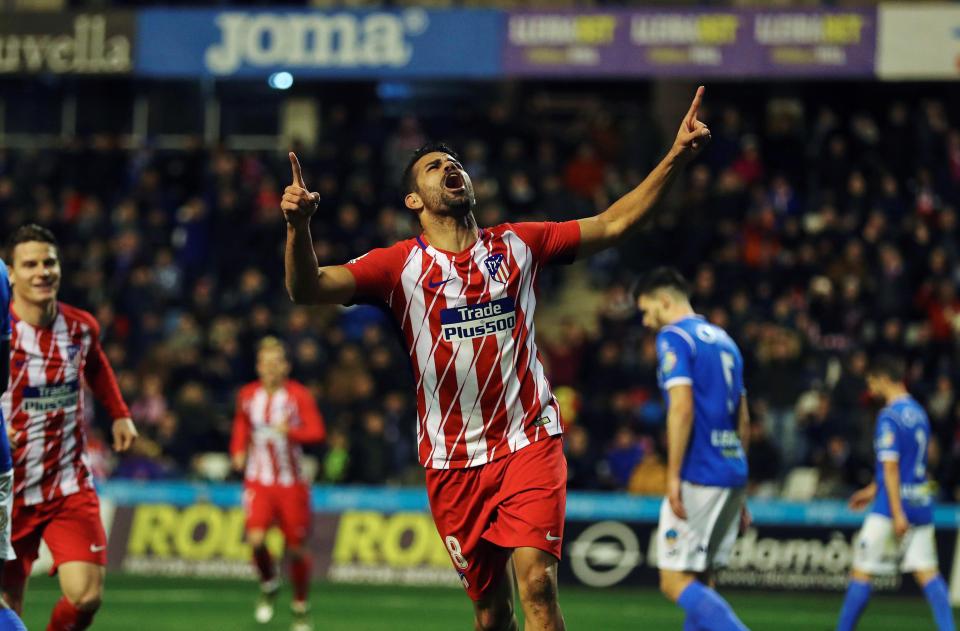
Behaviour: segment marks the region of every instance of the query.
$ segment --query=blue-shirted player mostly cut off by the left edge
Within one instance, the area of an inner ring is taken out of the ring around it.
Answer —
[[[10,381],[10,280],[7,266],[0,260],[0,395]],[[13,512],[13,458],[0,409],[0,580],[4,561],[16,558],[10,542],[10,514]],[[0,600],[0,631],[26,631],[16,612]]]

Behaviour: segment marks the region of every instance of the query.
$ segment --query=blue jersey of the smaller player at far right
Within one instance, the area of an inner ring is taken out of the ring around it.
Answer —
[[[933,521],[933,500],[927,484],[927,445],[930,421],[927,413],[910,395],[880,410],[874,449],[877,452],[877,498],[873,512],[890,517],[890,499],[883,475],[883,463],[896,460],[900,470],[900,501],[907,521],[925,525]]]

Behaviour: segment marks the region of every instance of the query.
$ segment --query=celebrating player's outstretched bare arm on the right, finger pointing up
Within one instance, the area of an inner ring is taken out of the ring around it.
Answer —
[[[673,147],[646,179],[599,215],[579,220],[580,257],[590,256],[626,239],[660,202],[680,169],[707,144],[710,130],[697,120],[703,93],[703,86],[697,88]]]

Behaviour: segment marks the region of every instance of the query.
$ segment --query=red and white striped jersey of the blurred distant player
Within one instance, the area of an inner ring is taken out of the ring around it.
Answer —
[[[286,433],[278,431],[283,425]],[[302,384],[287,380],[270,393],[254,381],[240,389],[230,453],[247,453],[246,482],[268,486],[301,483],[300,445],[319,443],[325,436],[320,410]]]

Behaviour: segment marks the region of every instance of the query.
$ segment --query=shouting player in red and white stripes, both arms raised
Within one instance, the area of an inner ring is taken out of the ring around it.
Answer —
[[[526,628],[564,628],[557,598],[566,461],[559,406],[534,342],[543,266],[612,247],[637,227],[709,139],[703,88],[673,147],[633,191],[595,217],[481,228],[456,153],[418,150],[402,177],[423,232],[346,265],[319,268],[310,218],[319,194],[290,154],[283,195],[286,282],[298,303],[385,303],[402,331],[417,389],[417,443],[437,530],[477,629],[517,629],[512,558]]]

